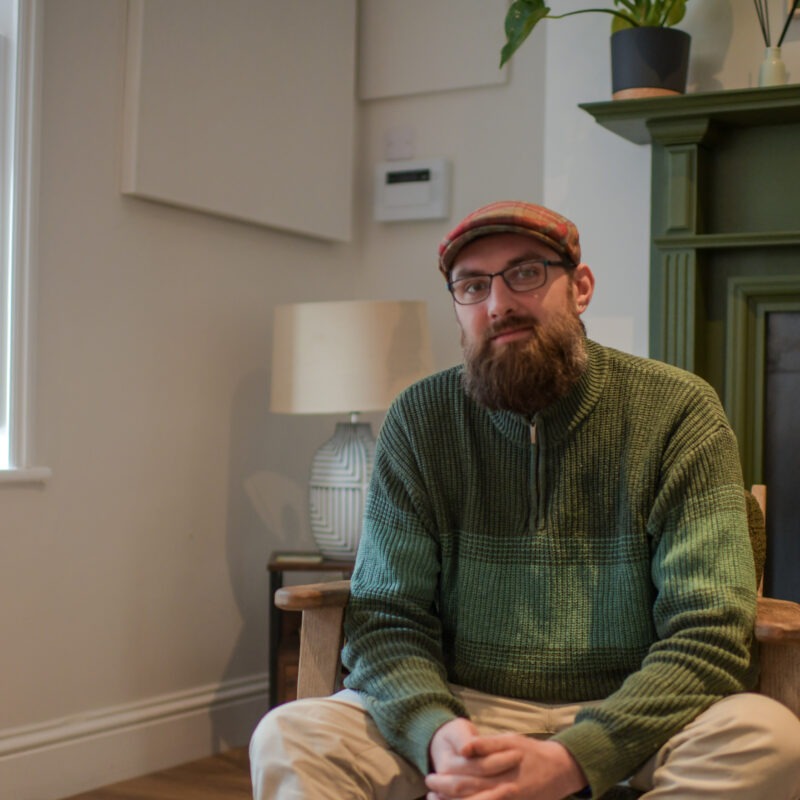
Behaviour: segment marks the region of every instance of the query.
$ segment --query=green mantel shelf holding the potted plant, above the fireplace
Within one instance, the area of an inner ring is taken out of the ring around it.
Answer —
[[[582,103],[580,108],[618,136],[650,144],[653,126],[660,122],[691,126],[715,121],[742,127],[800,122],[800,84]]]

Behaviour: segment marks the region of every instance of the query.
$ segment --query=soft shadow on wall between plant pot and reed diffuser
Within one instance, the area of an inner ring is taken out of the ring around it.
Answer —
[[[733,38],[732,2],[739,0],[703,0],[686,7],[686,17],[680,27],[692,35],[689,92],[715,92],[725,88],[719,76]]]

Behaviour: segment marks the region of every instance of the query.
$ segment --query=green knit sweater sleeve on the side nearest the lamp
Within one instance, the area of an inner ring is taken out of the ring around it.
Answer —
[[[437,616],[439,546],[398,412],[381,430],[345,617],[348,688],[387,742],[428,772],[433,734],[467,716],[447,685]]]

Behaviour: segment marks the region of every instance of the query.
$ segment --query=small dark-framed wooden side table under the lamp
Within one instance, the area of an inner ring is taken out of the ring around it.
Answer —
[[[300,653],[300,622],[296,611],[281,611],[275,605],[275,592],[283,586],[286,572],[339,572],[349,578],[354,559],[331,559],[314,553],[272,553],[269,572],[269,706],[297,696],[297,663]]]

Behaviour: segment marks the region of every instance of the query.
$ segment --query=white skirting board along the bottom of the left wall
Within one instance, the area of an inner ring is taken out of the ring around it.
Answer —
[[[59,798],[247,744],[265,674],[0,730],[0,796]]]

